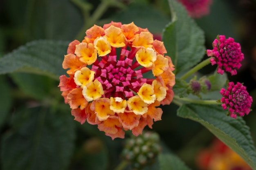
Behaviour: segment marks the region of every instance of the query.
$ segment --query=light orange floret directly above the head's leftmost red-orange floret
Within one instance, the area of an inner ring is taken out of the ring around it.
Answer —
[[[86,66],[83,62],[81,62],[76,55],[74,54],[67,54],[64,57],[62,67],[64,69],[70,68],[70,70],[67,71],[67,74],[71,75],[76,72],[77,69],[79,69],[81,66]]]

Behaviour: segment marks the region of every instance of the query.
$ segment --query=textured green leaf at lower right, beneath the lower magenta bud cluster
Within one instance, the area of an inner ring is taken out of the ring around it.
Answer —
[[[256,169],[256,150],[245,121],[226,116],[221,106],[187,104],[177,110],[177,115],[199,122],[232,150],[238,153],[252,169]]]

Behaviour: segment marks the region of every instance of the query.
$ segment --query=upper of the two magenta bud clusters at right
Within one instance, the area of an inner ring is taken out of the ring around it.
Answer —
[[[236,75],[236,68],[241,67],[241,62],[244,59],[240,44],[234,42],[233,38],[226,39],[225,35],[218,35],[212,46],[212,50],[206,51],[208,57],[212,57],[210,59],[211,65],[217,64],[217,72],[221,75],[224,71]]]

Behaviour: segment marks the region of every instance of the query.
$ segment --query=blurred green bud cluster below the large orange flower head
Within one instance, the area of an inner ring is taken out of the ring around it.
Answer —
[[[144,132],[137,137],[126,140],[122,151],[123,159],[131,163],[134,170],[142,169],[155,162],[155,157],[161,151],[159,135],[155,132]]]

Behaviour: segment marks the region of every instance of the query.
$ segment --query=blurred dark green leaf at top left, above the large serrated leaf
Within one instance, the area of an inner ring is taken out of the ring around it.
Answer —
[[[11,34],[15,41],[72,41],[83,25],[81,11],[70,0],[8,0],[5,4],[8,22],[16,29]]]

